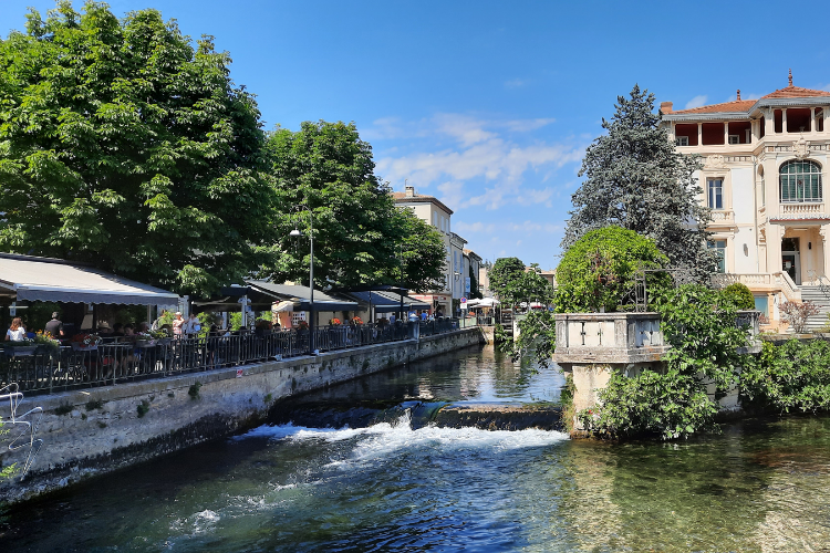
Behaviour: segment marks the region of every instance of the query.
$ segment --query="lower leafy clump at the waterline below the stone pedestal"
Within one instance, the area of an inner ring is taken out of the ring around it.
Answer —
[[[675,439],[716,428],[717,407],[692,374],[644,371],[626,377],[614,372],[599,397],[602,407],[580,411],[579,419],[600,437],[657,435]]]

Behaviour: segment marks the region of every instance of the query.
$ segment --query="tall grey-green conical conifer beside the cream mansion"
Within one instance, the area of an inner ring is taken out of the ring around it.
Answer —
[[[562,249],[585,232],[615,225],[653,239],[675,268],[698,281],[715,271],[715,254],[706,248],[709,209],[693,174],[698,157],[674,149],[654,113],[654,95],[634,86],[619,96],[606,134],[585,152],[579,175],[587,177],[573,195]]]

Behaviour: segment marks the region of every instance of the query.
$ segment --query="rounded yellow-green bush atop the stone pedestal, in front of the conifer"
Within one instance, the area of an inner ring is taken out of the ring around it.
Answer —
[[[668,259],[654,240],[632,230],[604,227],[582,236],[562,255],[557,268],[554,304],[559,313],[618,311],[630,303],[637,270],[660,269]],[[647,275],[650,293],[670,285],[665,273]]]

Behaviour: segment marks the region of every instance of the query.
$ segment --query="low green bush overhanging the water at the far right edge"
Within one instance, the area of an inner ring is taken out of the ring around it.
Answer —
[[[764,343],[759,359],[740,377],[743,401],[778,413],[830,409],[830,344],[790,340]]]

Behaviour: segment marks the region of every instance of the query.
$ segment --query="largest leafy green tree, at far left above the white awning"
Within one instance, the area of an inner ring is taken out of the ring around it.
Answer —
[[[0,41],[0,249],[210,293],[267,261],[253,97],[155,10],[32,10]]]

